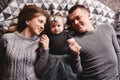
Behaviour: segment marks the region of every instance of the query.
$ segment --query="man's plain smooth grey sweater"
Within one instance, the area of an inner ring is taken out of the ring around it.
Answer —
[[[93,32],[75,33],[74,38],[82,47],[80,80],[119,80],[120,48],[112,26],[95,26]]]

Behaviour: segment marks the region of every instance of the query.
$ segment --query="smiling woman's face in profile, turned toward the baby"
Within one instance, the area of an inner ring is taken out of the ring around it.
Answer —
[[[31,35],[39,35],[44,30],[45,23],[46,17],[43,15],[39,15],[31,20],[26,21]]]

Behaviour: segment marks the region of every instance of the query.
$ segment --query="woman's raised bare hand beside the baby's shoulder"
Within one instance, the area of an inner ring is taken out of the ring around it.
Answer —
[[[44,50],[48,50],[49,49],[49,38],[48,38],[47,35],[42,34],[40,36],[40,44],[41,44],[41,46],[42,46],[42,48]]]

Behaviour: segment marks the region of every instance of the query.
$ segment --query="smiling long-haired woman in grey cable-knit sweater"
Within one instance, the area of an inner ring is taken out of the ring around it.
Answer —
[[[0,41],[0,80],[38,80],[35,62],[42,64],[39,66],[42,69],[48,56],[48,37],[38,37],[47,17],[47,13],[35,5],[26,5],[20,11],[17,31],[3,35]],[[37,54],[39,42],[42,51]]]

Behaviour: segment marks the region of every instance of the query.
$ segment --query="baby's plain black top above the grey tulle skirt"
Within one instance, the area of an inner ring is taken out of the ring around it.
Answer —
[[[69,53],[69,48],[67,40],[72,36],[68,35],[66,32],[60,34],[48,34],[50,40],[50,54],[63,55]]]

